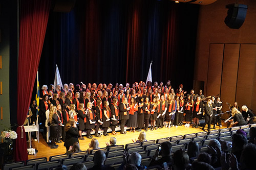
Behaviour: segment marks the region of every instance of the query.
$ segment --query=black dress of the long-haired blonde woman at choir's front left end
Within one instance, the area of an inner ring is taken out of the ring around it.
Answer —
[[[60,138],[60,128],[59,128],[59,117],[56,113],[52,116],[52,121],[50,123],[50,140],[57,141]]]

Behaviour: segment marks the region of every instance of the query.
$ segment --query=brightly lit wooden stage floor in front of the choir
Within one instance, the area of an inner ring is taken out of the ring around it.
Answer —
[[[213,128],[213,125],[211,125],[211,128]],[[223,123],[222,127],[216,126],[216,129],[224,129],[227,128],[226,125]],[[207,125],[205,127],[205,129],[207,129]],[[214,129],[211,129],[214,130]],[[178,135],[185,135],[185,134],[190,134],[190,133],[198,133],[198,132],[203,132],[202,131],[202,127],[198,127],[198,128],[192,128],[192,126],[190,127],[184,127],[183,126],[179,126],[179,127],[172,127],[172,128],[162,128],[162,129],[157,129],[154,131],[151,131],[150,129],[148,129],[148,131],[146,132],[146,139],[147,140],[157,140],[160,138],[165,138],[165,137],[171,137],[171,136],[178,136]],[[127,133],[124,134],[120,134],[120,132],[117,132],[118,135],[112,135],[112,133],[108,133],[109,136],[101,136],[101,137],[95,137],[94,135],[93,138],[97,138],[99,141],[99,147],[100,148],[104,148],[106,147],[105,142],[109,142],[110,137],[115,137],[117,139],[117,144],[118,145],[125,145],[127,143],[132,143],[132,139],[137,139],[139,136],[140,132],[129,132],[129,130],[127,129]],[[41,157],[47,157],[47,160],[49,160],[50,156],[54,156],[54,155],[61,155],[61,154],[65,154],[66,153],[66,147],[64,147],[64,142],[62,143],[57,143],[59,145],[59,147],[57,149],[51,149],[47,142],[42,138],[41,134],[39,134],[40,136],[40,142],[38,143],[37,141],[34,141],[32,139],[32,148],[35,148],[38,150],[38,153],[36,155],[28,155],[28,159],[35,159],[35,158],[41,158]],[[80,143],[80,149],[82,151],[86,151],[89,148],[89,143],[90,143],[91,139],[86,138],[86,136],[84,136],[84,140],[79,140]],[[29,145],[29,143],[28,143]]]

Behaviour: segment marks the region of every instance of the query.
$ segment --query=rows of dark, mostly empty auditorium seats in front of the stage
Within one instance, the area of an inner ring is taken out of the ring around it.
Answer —
[[[116,147],[106,147],[97,150],[92,150],[91,153],[87,151],[82,151],[79,153],[73,153],[71,155],[63,154],[51,156],[49,161],[47,161],[46,157],[30,159],[26,161],[26,165],[24,161],[5,164],[3,169],[55,169],[59,164],[67,165],[68,169],[76,162],[84,163],[87,168],[93,166],[93,154],[102,150],[106,153],[106,165],[111,165],[116,169],[123,162],[123,152],[127,151],[128,153],[138,152],[142,156],[142,165],[148,166],[152,157],[155,155],[156,150],[160,146],[162,142],[168,141],[172,143],[173,153],[182,148],[183,150],[187,149],[188,143],[192,140],[196,141],[200,146],[200,152],[207,151],[207,145],[211,139],[225,140],[231,141],[231,137],[237,130],[243,129],[247,133],[247,137],[249,137],[249,130],[251,127],[256,127],[256,124],[253,125],[244,125],[238,127],[231,127],[220,130],[212,130],[212,131],[204,131],[199,133],[192,133],[186,135],[172,136],[161,138],[157,140],[150,140],[141,143],[129,143],[124,145],[118,145]],[[152,168],[154,169],[154,168]]]

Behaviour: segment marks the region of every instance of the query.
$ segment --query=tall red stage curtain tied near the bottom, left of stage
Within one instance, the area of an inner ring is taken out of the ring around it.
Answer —
[[[26,134],[23,127],[29,109],[36,71],[44,44],[50,11],[50,0],[20,1],[17,134],[15,161],[28,159]]]

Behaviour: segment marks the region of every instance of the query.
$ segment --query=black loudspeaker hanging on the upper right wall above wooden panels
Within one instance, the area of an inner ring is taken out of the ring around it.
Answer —
[[[229,4],[227,17],[225,18],[226,25],[231,29],[239,29],[243,23],[247,12],[247,5],[243,4]]]

